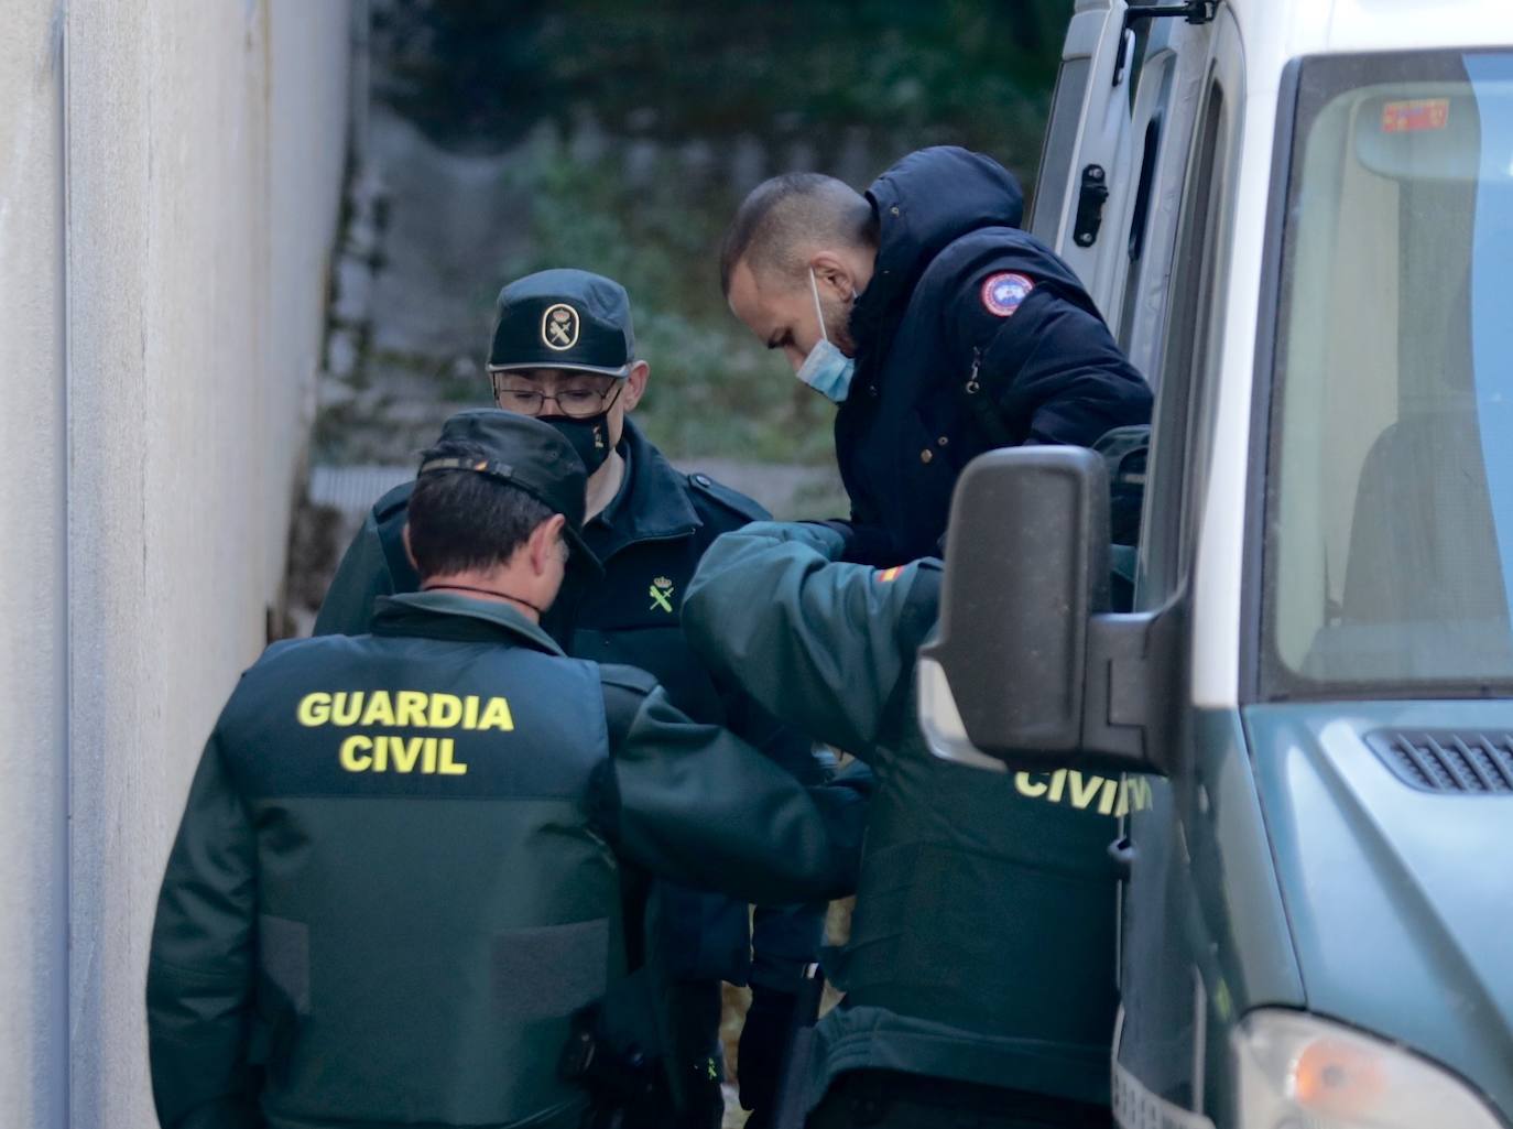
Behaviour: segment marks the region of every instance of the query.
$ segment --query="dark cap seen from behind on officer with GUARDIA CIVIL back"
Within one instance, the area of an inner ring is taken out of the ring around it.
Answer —
[[[430,459],[421,463],[419,475],[474,471],[525,490],[567,519],[563,534],[572,543],[573,560],[581,558],[595,572],[602,572],[598,557],[583,540],[589,475],[572,443],[555,427],[514,412],[480,407],[458,412],[442,424],[439,442],[471,443],[487,453],[487,459]]]

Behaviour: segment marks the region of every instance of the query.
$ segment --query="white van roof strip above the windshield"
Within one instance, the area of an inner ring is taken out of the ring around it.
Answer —
[[[1248,70],[1301,54],[1425,47],[1513,48],[1508,0],[1221,0],[1245,39]]]

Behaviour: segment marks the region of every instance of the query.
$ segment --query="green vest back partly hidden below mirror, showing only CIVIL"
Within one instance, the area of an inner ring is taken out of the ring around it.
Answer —
[[[831,1037],[843,1034],[847,1011],[876,1008],[903,1026],[934,1025],[929,1037],[897,1032],[888,1056],[908,1070],[1095,1100],[1106,1093],[1115,1008],[1108,844],[1129,788],[1118,778],[990,773],[932,757],[906,698],[891,726],[905,739],[876,751],[881,785],[850,940],[828,966],[847,993],[828,1017]],[[946,1028],[1011,1040],[997,1046],[1012,1055],[974,1055],[943,1038]],[[1009,1067],[1026,1076],[1005,1076]]]

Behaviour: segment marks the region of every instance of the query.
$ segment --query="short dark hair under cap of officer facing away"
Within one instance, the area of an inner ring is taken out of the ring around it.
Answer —
[[[433,459],[487,460],[477,443],[443,442]],[[410,552],[421,580],[469,569],[490,569],[514,555],[552,512],[517,486],[477,471],[433,471],[410,493]]]

